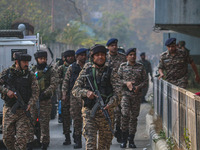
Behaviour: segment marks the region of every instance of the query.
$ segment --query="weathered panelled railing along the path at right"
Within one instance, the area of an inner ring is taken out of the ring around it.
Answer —
[[[153,88],[154,112],[162,118],[166,135],[185,148],[184,129],[188,129],[191,150],[200,150],[200,97],[157,78]]]

